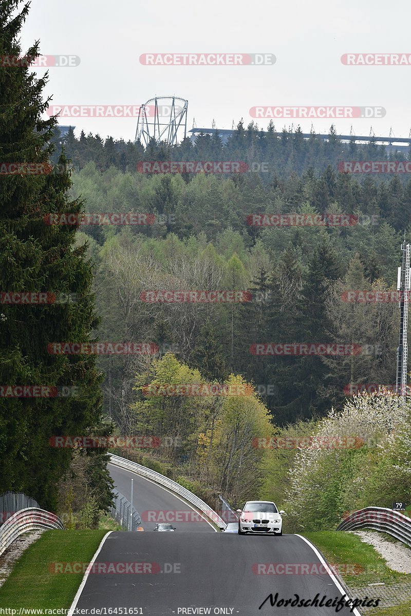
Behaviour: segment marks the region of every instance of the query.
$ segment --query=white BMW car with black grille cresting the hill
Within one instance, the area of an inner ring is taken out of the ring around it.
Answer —
[[[279,511],[272,501],[248,501],[243,510],[237,509],[238,535],[282,535],[285,511]]]

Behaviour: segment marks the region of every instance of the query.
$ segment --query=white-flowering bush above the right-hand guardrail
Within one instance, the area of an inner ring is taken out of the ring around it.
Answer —
[[[400,475],[401,489],[409,489],[410,458],[410,413],[404,400],[388,391],[354,396],[342,411],[332,409],[319,422],[311,447],[300,448],[295,456],[287,493],[290,522],[299,529],[331,530],[344,511],[361,501],[361,506],[386,506],[383,500],[396,493]],[[380,501],[365,504],[367,490]]]

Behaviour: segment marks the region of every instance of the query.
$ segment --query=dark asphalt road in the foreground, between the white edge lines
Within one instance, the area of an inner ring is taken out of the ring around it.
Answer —
[[[330,616],[337,613],[335,607],[272,607],[270,601],[260,610],[259,606],[270,593],[273,598],[278,593],[277,602],[295,599],[295,594],[305,601],[314,599],[317,593],[319,601],[323,596],[341,597],[326,572],[256,575],[261,571],[258,564],[288,563],[291,570],[303,563],[311,566],[317,563],[320,567],[312,548],[298,535],[113,532],[105,540],[94,567],[107,567],[107,563],[116,563],[115,567],[121,563],[123,569],[126,563],[139,565],[132,565],[135,567],[132,573],[90,573],[78,609],[106,608],[100,614],[109,614],[110,607],[135,608],[134,614],[147,616]],[[344,607],[338,614],[348,616],[350,612]]]

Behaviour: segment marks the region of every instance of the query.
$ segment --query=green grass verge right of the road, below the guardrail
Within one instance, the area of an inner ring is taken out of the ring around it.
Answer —
[[[405,582],[408,578],[406,573],[389,569],[385,559],[373,546],[363,543],[357,535],[324,530],[305,533],[304,537],[319,548],[330,564],[340,565],[337,572],[348,586],[366,586],[376,582],[390,585]]]

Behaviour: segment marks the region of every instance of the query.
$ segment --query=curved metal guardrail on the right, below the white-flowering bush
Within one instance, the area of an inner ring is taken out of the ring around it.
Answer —
[[[411,518],[384,507],[366,507],[354,511],[336,530],[372,529],[388,533],[411,547]]]

